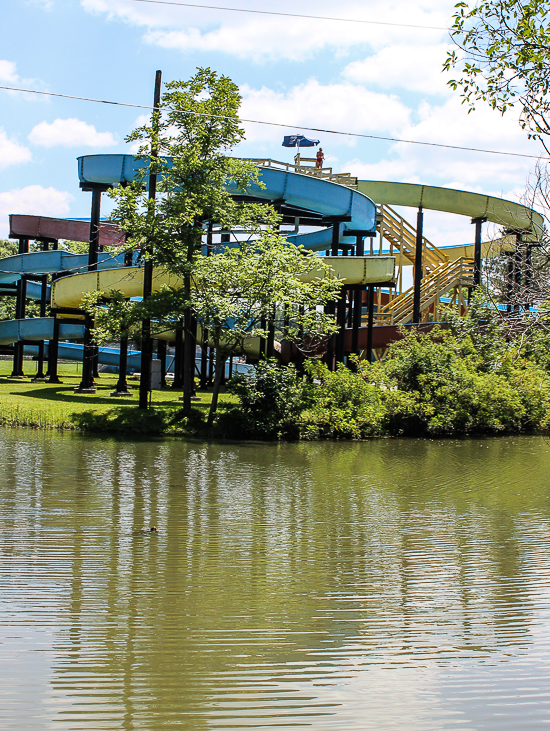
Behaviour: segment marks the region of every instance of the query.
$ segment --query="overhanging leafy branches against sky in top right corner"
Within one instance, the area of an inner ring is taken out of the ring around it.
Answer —
[[[455,5],[445,69],[459,67],[449,85],[473,109],[487,102],[504,113],[519,107],[530,137],[550,133],[550,4],[548,0],[483,0]]]

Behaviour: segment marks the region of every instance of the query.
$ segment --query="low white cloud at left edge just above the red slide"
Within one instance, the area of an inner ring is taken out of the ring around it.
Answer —
[[[35,216],[66,216],[73,196],[64,190],[28,185],[0,193],[0,237],[9,232],[8,216],[28,213]]]

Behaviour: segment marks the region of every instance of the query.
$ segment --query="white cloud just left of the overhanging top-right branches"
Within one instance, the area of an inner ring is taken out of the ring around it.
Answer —
[[[363,61],[353,61],[343,70],[344,78],[383,89],[402,87],[426,94],[450,94],[448,74],[442,66],[450,45],[390,45]]]

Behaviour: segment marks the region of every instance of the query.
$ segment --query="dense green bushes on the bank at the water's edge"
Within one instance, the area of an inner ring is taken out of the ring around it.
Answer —
[[[490,347],[479,332],[472,338],[413,331],[390,346],[383,363],[330,372],[312,362],[306,366],[310,382],[297,379],[294,369],[266,373],[262,364],[259,375],[239,379],[234,393],[246,429],[257,436],[358,439],[548,429],[550,377],[521,347],[494,337]]]

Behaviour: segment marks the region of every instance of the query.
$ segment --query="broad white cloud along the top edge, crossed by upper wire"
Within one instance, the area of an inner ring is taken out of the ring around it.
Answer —
[[[311,58],[327,49],[337,54],[356,46],[380,48],[387,42],[410,42],[411,30],[366,23],[314,20],[277,15],[254,15],[198,8],[174,8],[129,0],[81,0],[85,10],[104,14],[144,27],[144,40],[184,53],[194,51],[227,53],[254,60]],[[257,0],[241,0],[243,10],[257,10]],[[279,13],[349,18],[388,23],[411,23],[445,28],[452,12],[449,0],[426,0],[422,8],[406,0],[394,0],[380,7],[378,0],[279,0]],[[413,31],[414,42],[424,45],[443,37],[444,30]]]

